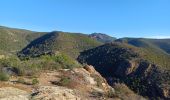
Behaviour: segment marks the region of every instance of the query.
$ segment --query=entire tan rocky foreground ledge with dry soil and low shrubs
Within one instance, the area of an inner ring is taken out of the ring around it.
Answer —
[[[0,100],[144,100],[124,84],[110,87],[93,66],[42,72],[36,85],[13,77],[0,83]]]

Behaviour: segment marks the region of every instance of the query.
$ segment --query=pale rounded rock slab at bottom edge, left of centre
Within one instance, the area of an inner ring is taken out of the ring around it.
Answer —
[[[32,95],[33,100],[80,100],[74,90],[59,86],[42,86]]]

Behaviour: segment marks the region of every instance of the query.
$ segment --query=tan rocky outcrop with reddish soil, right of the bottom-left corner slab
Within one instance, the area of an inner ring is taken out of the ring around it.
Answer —
[[[61,69],[52,73],[48,72],[48,75],[61,79],[53,79],[52,86],[40,86],[33,92],[33,100],[119,100],[115,90],[93,66]]]

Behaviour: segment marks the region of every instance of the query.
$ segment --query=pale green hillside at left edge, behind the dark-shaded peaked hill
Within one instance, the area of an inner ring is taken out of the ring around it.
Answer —
[[[15,54],[42,34],[0,26],[0,54]]]

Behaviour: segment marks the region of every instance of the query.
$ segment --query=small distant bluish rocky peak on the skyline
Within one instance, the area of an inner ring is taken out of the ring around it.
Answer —
[[[115,37],[111,37],[111,36],[103,34],[103,33],[92,33],[89,35],[89,37],[92,39],[96,39],[103,43],[113,42],[114,40],[116,40]]]

